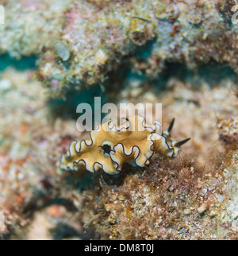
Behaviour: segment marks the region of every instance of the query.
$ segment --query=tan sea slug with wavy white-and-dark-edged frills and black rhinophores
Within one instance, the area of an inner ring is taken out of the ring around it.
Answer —
[[[180,146],[190,139],[172,142],[170,133],[175,119],[161,135],[159,122],[149,125],[140,115],[125,120],[121,126],[106,122],[90,132],[89,140],[71,142],[69,151],[61,158],[60,169],[77,171],[85,166],[91,173],[103,169],[117,174],[125,163],[144,167],[153,155],[176,157]]]

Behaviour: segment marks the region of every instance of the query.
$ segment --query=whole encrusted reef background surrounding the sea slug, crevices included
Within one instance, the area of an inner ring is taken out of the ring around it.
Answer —
[[[0,239],[238,239],[235,1],[1,4]],[[117,175],[63,171],[95,96],[162,103],[191,139]]]

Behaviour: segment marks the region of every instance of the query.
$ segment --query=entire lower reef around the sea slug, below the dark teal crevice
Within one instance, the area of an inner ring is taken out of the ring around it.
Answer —
[[[235,86],[230,78],[213,87],[201,80],[197,89],[183,80],[167,81],[156,96],[163,103],[163,126],[176,116],[173,137],[192,137],[175,159],[155,157],[145,169],[124,165],[116,176],[60,174],[61,155],[86,134],[71,118],[52,118],[33,71],[6,69],[0,80],[0,211],[6,226],[1,237],[237,239]],[[146,90],[128,98],[148,99],[155,94]]]

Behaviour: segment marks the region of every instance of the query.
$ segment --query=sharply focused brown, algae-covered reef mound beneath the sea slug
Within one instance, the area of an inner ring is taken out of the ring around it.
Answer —
[[[100,212],[98,232],[104,239],[237,239],[237,200],[226,200],[225,185],[237,172],[237,150],[232,158],[225,175],[225,166],[205,174],[196,162],[177,157],[155,160],[144,173],[127,175],[119,188],[104,185],[91,201]],[[237,189],[232,180],[230,188]]]

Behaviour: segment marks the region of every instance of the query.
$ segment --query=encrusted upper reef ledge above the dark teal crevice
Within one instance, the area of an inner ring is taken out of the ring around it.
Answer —
[[[228,64],[237,73],[235,1],[15,1],[4,2],[0,50],[38,55],[36,76],[52,95],[102,83],[109,72],[131,64],[154,79],[168,63],[190,69]],[[37,22],[35,22],[37,21]],[[57,54],[56,42],[68,52]],[[149,44],[149,46],[148,46]],[[146,54],[139,49],[148,46]]]

